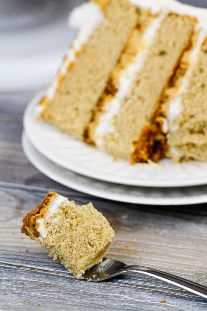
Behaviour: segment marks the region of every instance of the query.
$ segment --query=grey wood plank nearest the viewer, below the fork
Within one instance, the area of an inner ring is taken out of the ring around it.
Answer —
[[[0,266],[0,310],[206,310],[205,299],[141,286],[78,281],[67,276]],[[26,289],[26,291],[25,291]],[[166,300],[163,304],[160,300]],[[29,303],[27,304],[27,301]]]

